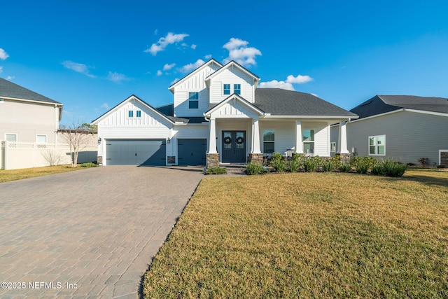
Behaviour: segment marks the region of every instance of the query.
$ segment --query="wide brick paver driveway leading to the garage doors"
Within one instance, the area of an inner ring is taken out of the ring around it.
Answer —
[[[0,183],[0,298],[137,298],[200,170],[107,166]]]

